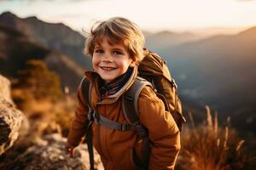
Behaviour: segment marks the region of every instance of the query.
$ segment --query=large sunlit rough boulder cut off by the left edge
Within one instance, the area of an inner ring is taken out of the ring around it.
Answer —
[[[0,156],[18,139],[26,118],[15,109],[10,98],[9,81],[0,75]],[[24,133],[24,132],[23,132]]]

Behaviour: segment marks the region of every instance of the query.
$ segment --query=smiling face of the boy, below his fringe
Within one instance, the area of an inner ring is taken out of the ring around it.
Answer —
[[[92,66],[105,82],[124,74],[129,66],[134,66],[124,45],[110,45],[105,38],[101,44],[96,45],[92,55]]]

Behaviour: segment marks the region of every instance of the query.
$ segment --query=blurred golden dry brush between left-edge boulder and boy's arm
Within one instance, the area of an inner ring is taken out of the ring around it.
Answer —
[[[42,143],[42,135],[61,133],[67,136],[74,116],[75,98],[66,94],[64,99],[53,102],[50,99],[34,99],[26,89],[12,90],[12,98],[18,109],[23,111],[30,123],[29,132],[19,138],[15,145],[0,157],[0,169],[33,144]],[[64,146],[63,146],[64,147]]]

